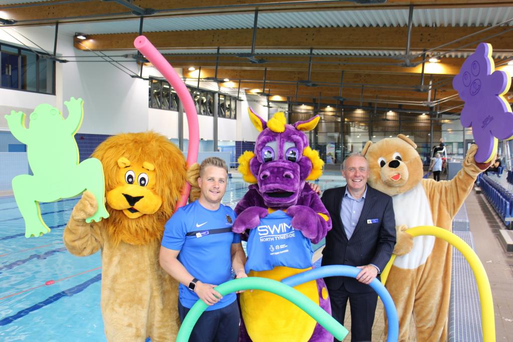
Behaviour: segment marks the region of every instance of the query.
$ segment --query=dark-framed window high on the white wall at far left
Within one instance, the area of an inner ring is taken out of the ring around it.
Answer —
[[[1,44],[2,88],[54,94],[55,61],[50,55]]]

